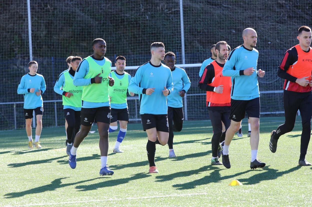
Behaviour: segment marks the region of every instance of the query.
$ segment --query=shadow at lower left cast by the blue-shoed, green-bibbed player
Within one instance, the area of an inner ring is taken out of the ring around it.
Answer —
[[[100,179],[101,177],[97,177],[97,178],[93,178],[93,179],[89,179],[89,180],[84,180],[84,181],[78,181],[78,182],[74,182],[74,183],[62,184],[61,180],[66,179],[66,178],[68,178],[68,177],[58,178],[58,179],[55,179],[54,181],[52,181],[50,184],[47,184],[45,186],[32,188],[32,189],[29,189],[26,191],[7,193],[4,195],[4,197],[5,198],[17,198],[17,197],[22,197],[24,195],[29,195],[29,194],[43,193],[46,191],[55,191],[58,188],[77,185],[77,184],[89,182],[89,181],[94,181],[96,179]]]

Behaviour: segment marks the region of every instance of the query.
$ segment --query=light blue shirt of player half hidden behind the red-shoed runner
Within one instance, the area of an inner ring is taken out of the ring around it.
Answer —
[[[188,89],[191,87],[191,82],[183,68],[175,66],[171,73],[174,90],[172,94],[167,97],[168,106],[180,108],[183,107],[183,102],[179,92],[182,90],[184,90],[185,93],[188,92]]]

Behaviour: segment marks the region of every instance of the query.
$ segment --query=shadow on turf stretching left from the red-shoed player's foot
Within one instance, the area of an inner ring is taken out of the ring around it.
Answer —
[[[126,184],[126,183],[129,183],[129,181],[134,181],[134,180],[138,180],[141,178],[147,178],[150,176],[151,176],[150,174],[140,172],[140,173],[137,173],[137,174],[132,175],[131,177],[127,177],[127,178],[119,178],[116,180],[107,180],[107,181],[103,181],[103,182],[99,182],[99,183],[95,183],[95,184],[91,184],[91,185],[76,186],[76,189],[80,189],[79,191],[93,191],[93,190],[97,190],[99,188],[113,187],[113,186]]]

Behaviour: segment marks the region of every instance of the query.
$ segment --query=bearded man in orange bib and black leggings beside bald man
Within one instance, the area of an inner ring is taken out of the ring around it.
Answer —
[[[198,82],[198,87],[207,91],[207,107],[213,129],[211,164],[222,165],[219,161],[218,151],[221,151],[220,143],[224,141],[225,133],[230,126],[232,82],[230,77],[222,75],[222,69],[228,56],[227,42],[220,41],[215,48],[217,59],[207,65]],[[225,125],[223,133],[222,122]]]

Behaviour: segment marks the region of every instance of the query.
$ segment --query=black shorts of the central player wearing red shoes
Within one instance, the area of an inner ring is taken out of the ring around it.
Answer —
[[[141,114],[143,130],[156,127],[157,131],[169,132],[167,114]]]

